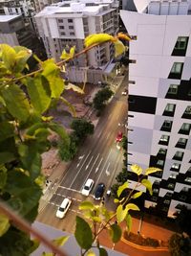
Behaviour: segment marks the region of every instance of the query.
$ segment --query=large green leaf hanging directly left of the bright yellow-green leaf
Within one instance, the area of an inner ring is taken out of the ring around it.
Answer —
[[[38,75],[27,80],[28,93],[33,107],[38,113],[44,113],[51,104],[51,89],[49,82]]]

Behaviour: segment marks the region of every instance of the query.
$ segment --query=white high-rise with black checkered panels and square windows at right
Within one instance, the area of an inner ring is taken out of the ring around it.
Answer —
[[[159,167],[149,175],[150,212],[175,218],[191,207],[191,1],[134,1],[120,11],[133,40],[129,58],[128,171]],[[135,12],[136,11],[136,12]],[[145,189],[140,186],[138,190]]]

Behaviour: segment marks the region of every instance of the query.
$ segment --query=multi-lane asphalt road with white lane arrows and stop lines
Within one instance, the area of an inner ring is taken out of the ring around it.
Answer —
[[[127,96],[121,95],[127,84],[126,78],[99,118],[94,135],[86,139],[64,175],[44,196],[47,206],[40,210],[37,221],[73,233],[75,216],[80,215],[79,203],[83,200],[99,203],[93,198],[96,185],[103,182],[107,191],[116,182],[115,177],[123,166],[123,151],[117,150],[115,140],[119,130],[126,133],[124,124],[127,118]],[[95,184],[90,196],[84,197],[81,189],[87,178],[94,179]],[[65,218],[59,220],[55,217],[55,212],[64,198],[71,198],[73,202]],[[112,198],[106,198],[105,202],[108,208],[114,207]]]

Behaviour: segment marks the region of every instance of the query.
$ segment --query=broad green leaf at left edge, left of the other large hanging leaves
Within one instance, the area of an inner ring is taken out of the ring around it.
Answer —
[[[16,84],[11,84],[2,90],[2,95],[11,115],[26,122],[30,117],[30,105],[25,93]]]

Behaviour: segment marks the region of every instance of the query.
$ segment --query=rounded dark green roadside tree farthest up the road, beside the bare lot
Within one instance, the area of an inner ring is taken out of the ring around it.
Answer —
[[[112,97],[113,94],[114,92],[109,87],[105,87],[96,93],[93,100],[93,105],[98,112],[104,109],[107,101]]]

